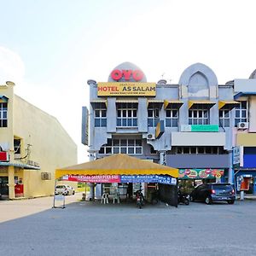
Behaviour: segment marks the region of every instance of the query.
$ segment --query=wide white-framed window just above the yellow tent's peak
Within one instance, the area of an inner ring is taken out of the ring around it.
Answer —
[[[143,142],[140,139],[108,139],[99,154],[143,154]]]

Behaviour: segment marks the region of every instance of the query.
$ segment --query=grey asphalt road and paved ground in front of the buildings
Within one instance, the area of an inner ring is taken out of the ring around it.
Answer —
[[[256,254],[256,201],[140,210],[80,198],[68,196],[65,209],[51,208],[52,197],[0,201],[0,255]]]

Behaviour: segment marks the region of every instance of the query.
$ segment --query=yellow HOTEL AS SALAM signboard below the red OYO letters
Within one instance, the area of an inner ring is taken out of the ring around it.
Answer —
[[[97,96],[155,96],[156,84],[137,82],[102,82],[97,84]]]

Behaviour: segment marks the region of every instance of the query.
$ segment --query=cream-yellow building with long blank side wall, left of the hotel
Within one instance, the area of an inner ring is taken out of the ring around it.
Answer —
[[[77,163],[77,146],[53,116],[0,85],[2,199],[53,195],[55,168]]]

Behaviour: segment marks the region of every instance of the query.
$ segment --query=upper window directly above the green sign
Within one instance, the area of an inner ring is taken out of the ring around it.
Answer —
[[[204,106],[189,109],[189,125],[209,125],[209,110]]]

